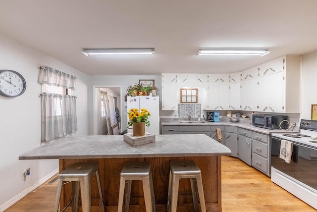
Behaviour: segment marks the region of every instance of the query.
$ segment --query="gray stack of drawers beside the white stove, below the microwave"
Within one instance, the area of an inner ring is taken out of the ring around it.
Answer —
[[[270,174],[269,165],[269,136],[262,133],[252,133],[252,166]]]

